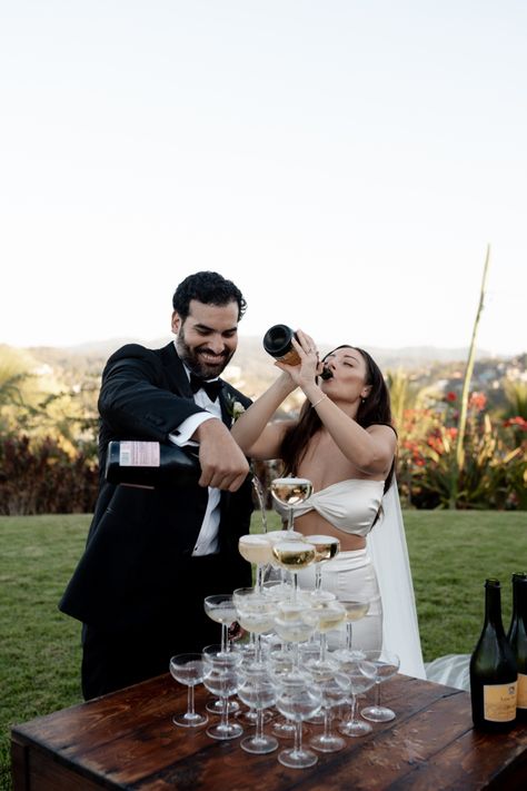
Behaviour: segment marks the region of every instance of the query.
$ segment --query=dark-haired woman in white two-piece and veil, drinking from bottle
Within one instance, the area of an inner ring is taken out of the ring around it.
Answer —
[[[300,363],[277,362],[280,376],[232,426],[257,461],[281,458],[284,475],[309,478],[314,494],[295,513],[304,535],[338,537],[340,552],[322,566],[322,585],[337,597],[364,597],[368,614],[354,624],[354,642],[397,653],[400,672],[426,678],[414,587],[394,463],[397,435],[382,374],[364,349],[339,346],[320,362],[312,338],[298,330]],[[299,387],[298,419],[272,422]],[[314,572],[299,584],[314,586]]]

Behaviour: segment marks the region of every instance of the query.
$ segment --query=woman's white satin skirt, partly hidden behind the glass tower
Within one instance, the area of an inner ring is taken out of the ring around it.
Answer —
[[[309,540],[309,536],[307,536]],[[369,602],[365,617],[352,623],[351,647],[380,650],[382,647],[382,603],[374,565],[368,551],[354,550],[339,552],[332,561],[321,565],[322,591],[335,593],[337,599],[364,599]],[[298,572],[298,586],[305,590],[315,587],[315,568],[308,566]],[[345,645],[346,625],[328,634],[329,647]]]

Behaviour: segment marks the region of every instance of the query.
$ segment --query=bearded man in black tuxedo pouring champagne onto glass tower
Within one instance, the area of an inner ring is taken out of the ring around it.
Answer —
[[[111,439],[199,446],[193,485],[140,488],[101,476],[84,553],[60,602],[82,621],[82,692],[106,694],[166,673],[170,656],[218,642],[203,597],[250,585],[238,552],[249,533],[249,465],[230,436],[232,405],[250,399],[219,379],[238,344],[241,291],[199,271],[172,299],[176,340],[130,344],[108,360],[99,397],[100,469]]]

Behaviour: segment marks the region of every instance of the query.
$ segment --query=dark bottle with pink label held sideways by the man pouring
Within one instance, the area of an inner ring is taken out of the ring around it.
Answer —
[[[198,457],[177,445],[137,439],[108,443],[105,477],[109,483],[179,487],[196,483],[200,474]]]

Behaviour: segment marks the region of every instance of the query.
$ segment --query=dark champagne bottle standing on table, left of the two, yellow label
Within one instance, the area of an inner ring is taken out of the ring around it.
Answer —
[[[518,669],[501,622],[499,580],[485,581],[485,623],[470,657],[475,728],[507,731],[516,721]]]

